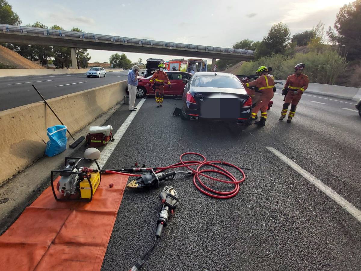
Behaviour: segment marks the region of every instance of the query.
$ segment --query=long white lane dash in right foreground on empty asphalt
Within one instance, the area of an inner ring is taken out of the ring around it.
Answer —
[[[359,222],[361,222],[361,211],[358,210],[355,206],[353,206],[350,202],[344,199],[342,196],[337,194],[335,190],[330,188],[329,186],[325,185],[323,182],[318,180],[314,177],[311,173],[306,171],[305,169],[301,168],[291,159],[287,158],[287,156],[283,155],[278,150],[274,149],[273,147],[266,147],[269,151],[271,151],[274,155],[276,155],[279,159],[281,159],[284,163],[289,165],[295,171],[297,171],[300,175],[305,177],[311,184],[316,186],[319,190],[323,193],[328,195],[331,199],[333,199],[338,205],[348,211],[351,215],[353,215]]]

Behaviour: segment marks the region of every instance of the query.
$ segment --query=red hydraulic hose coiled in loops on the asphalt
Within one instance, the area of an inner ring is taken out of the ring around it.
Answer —
[[[183,157],[185,155],[197,155],[199,157],[201,157],[203,159],[203,161],[183,161]],[[207,161],[207,159],[205,158],[204,155],[201,155],[197,152],[185,152],[184,154],[182,154],[179,157],[180,162],[175,163],[173,165],[169,165],[168,167],[158,167],[156,168],[157,171],[156,173],[162,172],[166,169],[172,169],[172,168],[180,168],[180,167],[186,167],[187,169],[191,170],[194,175],[193,175],[193,184],[196,186],[196,188],[206,194],[209,195],[210,197],[213,198],[231,198],[234,197],[238,192],[239,192],[239,184],[242,183],[245,180],[245,174],[243,172],[242,169],[240,169],[239,167],[237,167],[234,164],[228,163],[228,162],[224,162],[224,161]],[[220,165],[227,165],[229,167],[233,167],[235,169],[237,169],[241,174],[242,174],[242,179],[237,180],[236,177],[234,175],[232,175],[229,171],[227,171],[225,168],[222,168]],[[205,167],[206,165],[214,167],[216,169],[201,169],[202,167]],[[191,168],[191,166],[198,166],[197,169],[193,169]],[[152,168],[147,168],[148,170],[151,170]],[[215,173],[219,173],[223,176],[226,176],[229,180],[222,180],[222,179],[218,179],[218,178],[214,178],[211,177],[209,175],[206,175],[206,172],[215,172]],[[139,177],[142,176],[140,174],[130,174],[130,173],[125,173],[125,172],[117,172],[117,171],[110,171],[110,170],[105,170],[105,173],[114,173],[114,174],[121,174],[121,175],[127,175],[127,176],[134,176],[134,177]],[[232,184],[234,185],[234,189],[231,191],[226,191],[226,192],[222,192],[222,191],[217,191],[214,190],[212,188],[210,188],[209,186],[205,185],[202,181],[200,176],[203,176],[205,178],[214,180],[214,181],[218,181],[218,182],[223,182],[226,184]],[[197,184],[197,181],[200,183],[200,185],[203,187],[203,189]]]

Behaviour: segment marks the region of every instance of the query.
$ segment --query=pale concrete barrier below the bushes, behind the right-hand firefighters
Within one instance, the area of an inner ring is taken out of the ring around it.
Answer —
[[[277,80],[276,82],[286,83],[284,80]],[[279,85],[276,85],[279,86]],[[325,96],[331,96],[336,98],[342,98],[347,100],[358,101],[361,97],[361,88],[357,87],[345,87],[345,86],[335,86],[335,85],[326,85],[318,83],[309,83],[306,93],[319,94]]]

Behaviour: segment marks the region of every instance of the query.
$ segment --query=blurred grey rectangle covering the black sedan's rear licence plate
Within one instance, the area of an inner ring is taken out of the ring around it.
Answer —
[[[240,101],[235,98],[208,98],[201,103],[201,116],[212,119],[238,118]]]

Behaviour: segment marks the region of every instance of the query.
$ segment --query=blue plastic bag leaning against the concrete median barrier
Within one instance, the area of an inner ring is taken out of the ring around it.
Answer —
[[[55,125],[47,129],[49,141],[46,144],[45,155],[52,157],[66,150],[66,126]]]

